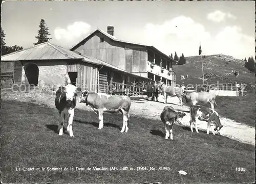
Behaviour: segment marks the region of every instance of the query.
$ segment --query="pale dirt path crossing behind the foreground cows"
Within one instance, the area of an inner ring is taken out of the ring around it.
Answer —
[[[53,92],[54,93],[54,92]],[[38,93],[36,91],[32,91],[29,93],[25,92],[8,92],[2,91],[1,92],[2,99],[14,99],[19,101],[27,101],[42,104],[44,106],[48,106],[51,108],[55,108],[54,98],[55,94],[46,94],[46,93]],[[160,102],[153,102],[153,101],[146,101],[146,100],[133,100],[132,107],[131,107],[131,116],[139,116],[141,118],[150,118],[160,120],[160,114],[165,106],[172,106],[177,111],[182,111],[186,114],[184,116],[182,124],[185,126],[189,125],[189,107],[183,106],[180,107],[178,104],[177,97],[168,97],[167,103],[164,104],[162,96],[159,97]],[[84,103],[77,104],[78,109],[88,109]],[[221,123],[224,125],[222,128],[222,136],[226,136],[230,139],[237,140],[243,143],[248,143],[255,145],[255,128],[238,123],[231,119],[220,117]],[[199,130],[206,130],[207,123],[205,121],[197,121]],[[210,132],[211,134],[211,132]]]

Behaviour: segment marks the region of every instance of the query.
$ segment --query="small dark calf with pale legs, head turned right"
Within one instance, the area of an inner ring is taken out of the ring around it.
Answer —
[[[185,115],[185,113],[176,112],[171,106],[164,107],[160,118],[165,127],[165,139],[170,137],[170,139],[173,140],[173,125],[175,122],[181,124],[180,120],[182,120]]]

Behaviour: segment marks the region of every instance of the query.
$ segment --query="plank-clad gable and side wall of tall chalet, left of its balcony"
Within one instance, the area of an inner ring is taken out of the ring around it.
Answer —
[[[100,42],[100,38],[103,38],[104,41]],[[146,72],[145,47],[116,42],[100,32],[96,32],[76,51],[129,72]]]

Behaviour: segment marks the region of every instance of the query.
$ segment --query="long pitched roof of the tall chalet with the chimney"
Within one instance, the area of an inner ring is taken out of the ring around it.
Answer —
[[[161,52],[160,50],[158,50],[156,47],[151,46],[151,45],[145,45],[145,44],[141,44],[141,43],[135,43],[135,42],[129,42],[129,41],[124,41],[124,40],[120,40],[104,31],[102,31],[101,29],[97,28],[94,32],[90,33],[86,38],[84,38],[82,41],[80,41],[79,43],[77,43],[76,45],[74,45],[70,50],[74,50],[76,49],[78,46],[81,45],[81,43],[84,42],[84,40],[88,39],[91,35],[93,35],[95,32],[99,31],[100,33],[102,33],[103,35],[109,37],[110,39],[114,40],[114,41],[118,41],[118,42],[123,42],[123,43],[129,43],[129,44],[134,44],[134,45],[140,45],[140,46],[144,46],[147,48],[152,48],[153,50],[155,50],[156,52],[158,52],[160,55],[164,56],[165,58],[168,58],[169,60],[171,60],[173,62],[173,64],[177,64],[177,61],[169,58],[167,55],[165,55],[163,52]]]

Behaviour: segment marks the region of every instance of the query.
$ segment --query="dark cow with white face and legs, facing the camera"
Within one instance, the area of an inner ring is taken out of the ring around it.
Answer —
[[[63,125],[68,122],[67,130],[70,137],[74,137],[72,130],[72,123],[74,117],[74,111],[76,107],[76,93],[81,91],[80,88],[76,88],[72,84],[68,84],[66,87],[59,87],[55,97],[55,107],[59,112],[59,136],[63,134]]]

